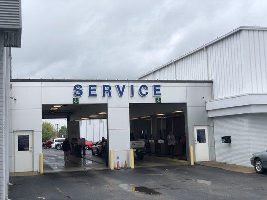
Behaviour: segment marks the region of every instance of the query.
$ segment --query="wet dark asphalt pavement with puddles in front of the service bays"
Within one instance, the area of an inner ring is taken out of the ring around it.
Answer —
[[[12,177],[10,199],[267,199],[267,174],[168,166]]]

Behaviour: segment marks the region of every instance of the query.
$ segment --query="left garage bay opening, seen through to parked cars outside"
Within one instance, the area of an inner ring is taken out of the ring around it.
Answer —
[[[42,105],[44,172],[106,169],[106,116],[107,104]]]

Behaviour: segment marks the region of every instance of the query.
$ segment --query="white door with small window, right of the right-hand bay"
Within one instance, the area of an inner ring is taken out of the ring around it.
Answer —
[[[209,161],[208,126],[195,126],[196,162]]]

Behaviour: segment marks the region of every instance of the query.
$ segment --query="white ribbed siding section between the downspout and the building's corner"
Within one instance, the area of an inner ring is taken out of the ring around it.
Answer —
[[[209,79],[213,79],[214,99],[243,93],[240,32],[207,48]]]

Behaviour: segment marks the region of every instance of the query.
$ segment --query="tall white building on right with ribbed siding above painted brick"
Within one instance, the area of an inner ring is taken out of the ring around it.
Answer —
[[[267,28],[239,27],[139,80],[212,80],[206,111],[213,119],[216,160],[250,166],[267,150]],[[231,136],[231,143],[221,137]]]

